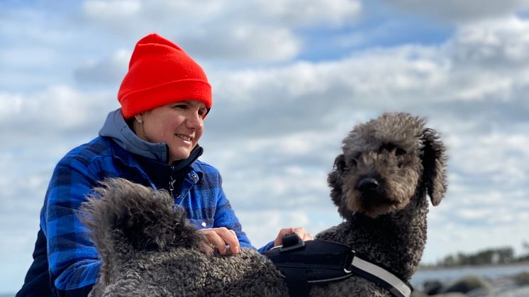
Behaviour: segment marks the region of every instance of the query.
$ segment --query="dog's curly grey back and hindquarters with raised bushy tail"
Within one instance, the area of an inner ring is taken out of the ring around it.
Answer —
[[[82,208],[101,254],[91,296],[284,296],[274,264],[256,250],[214,254],[165,191],[108,179]]]

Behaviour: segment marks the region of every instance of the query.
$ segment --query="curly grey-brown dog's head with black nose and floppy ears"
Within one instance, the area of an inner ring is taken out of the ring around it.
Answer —
[[[421,118],[384,113],[355,126],[342,148],[328,184],[343,218],[398,211],[426,193],[436,206],[445,194],[445,146]]]

